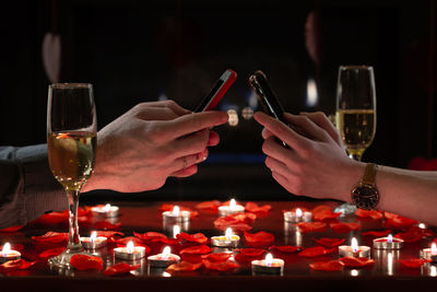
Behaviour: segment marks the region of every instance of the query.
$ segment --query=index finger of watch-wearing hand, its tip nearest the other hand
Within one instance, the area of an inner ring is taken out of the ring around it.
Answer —
[[[310,142],[307,138],[298,135],[284,122],[272,118],[262,112],[255,113],[253,117],[259,124],[264,126],[269,131],[271,131],[280,140],[284,141],[291,148],[304,150]]]

